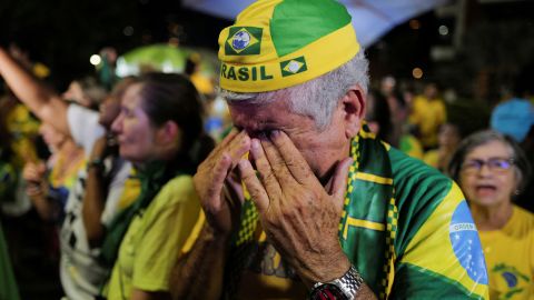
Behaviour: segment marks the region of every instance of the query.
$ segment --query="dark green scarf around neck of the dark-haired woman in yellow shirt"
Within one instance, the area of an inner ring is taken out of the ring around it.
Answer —
[[[102,262],[109,267],[115,264],[122,237],[130,226],[134,217],[147,208],[161,187],[171,178],[181,173],[174,163],[168,161],[152,161],[139,170],[138,177],[141,190],[137,200],[121,211],[107,229],[101,248]]]

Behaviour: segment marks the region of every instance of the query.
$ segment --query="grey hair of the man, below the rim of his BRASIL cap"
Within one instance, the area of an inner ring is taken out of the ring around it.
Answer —
[[[266,104],[276,99],[288,99],[294,113],[314,119],[317,129],[325,130],[339,100],[350,87],[358,84],[365,93],[369,84],[369,62],[364,50],[342,67],[301,84],[269,92],[238,93],[220,89],[220,96],[228,102]]]

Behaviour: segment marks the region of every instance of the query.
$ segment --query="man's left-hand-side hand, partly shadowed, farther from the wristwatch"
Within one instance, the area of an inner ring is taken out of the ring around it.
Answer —
[[[208,226],[216,233],[225,237],[235,229],[241,204],[231,202],[230,197],[225,197],[225,189],[234,196],[243,194],[234,178],[234,170],[249,149],[248,134],[234,129],[198,167],[194,177]],[[239,198],[243,201],[243,197]]]

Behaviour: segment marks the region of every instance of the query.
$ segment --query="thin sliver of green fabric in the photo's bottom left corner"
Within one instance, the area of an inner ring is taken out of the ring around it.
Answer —
[[[0,300],[19,300],[19,291],[14,280],[8,247],[0,224]]]

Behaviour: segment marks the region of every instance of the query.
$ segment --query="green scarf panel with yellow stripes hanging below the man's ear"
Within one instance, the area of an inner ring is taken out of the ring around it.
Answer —
[[[387,150],[379,140],[356,138],[353,140],[352,148],[357,149],[353,151],[353,159],[357,160],[355,166],[358,168],[349,176],[363,172],[392,179],[392,163]],[[388,249],[386,237],[389,236],[389,232],[349,227],[347,239],[344,239],[343,233],[348,218],[373,221],[386,227],[387,212],[388,209],[392,209],[388,206],[388,199],[393,197],[393,186],[363,180],[349,180],[348,184],[353,187],[353,192],[347,190],[346,198],[349,199],[349,203],[344,208],[346,216],[342,219],[339,240],[345,254],[363,274],[369,288],[375,292],[384,291],[386,287],[382,283],[387,276],[385,272],[386,250]],[[373,251],[369,251],[369,244],[373,246]]]

